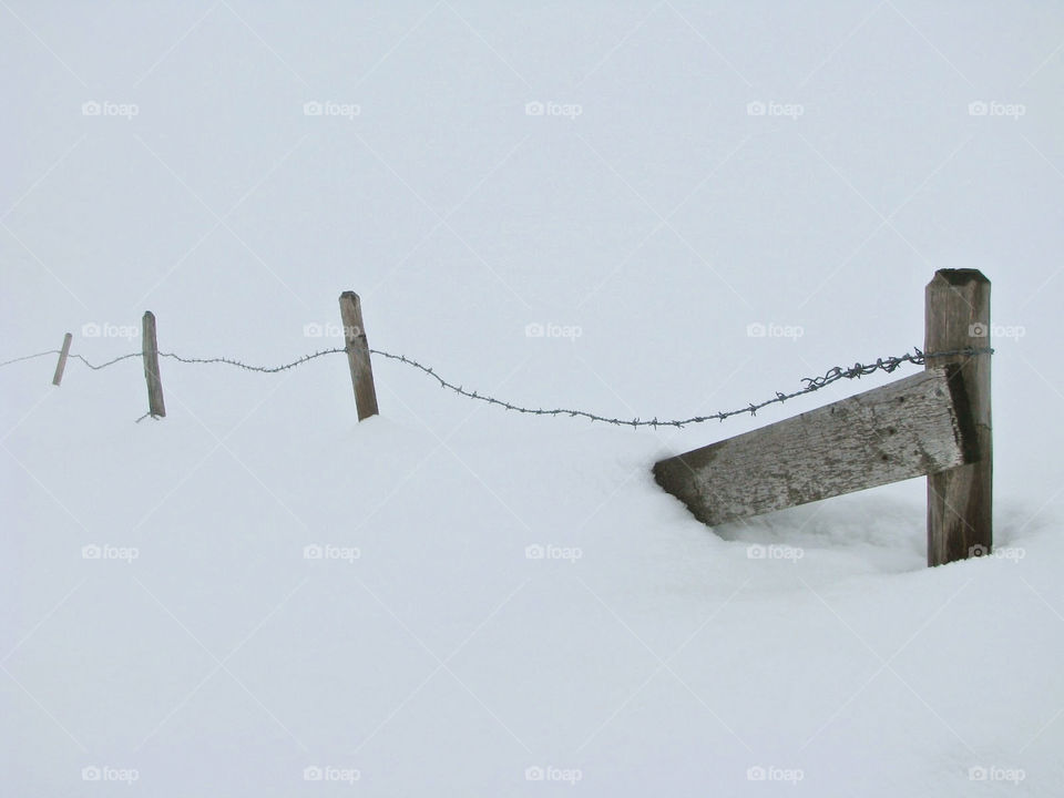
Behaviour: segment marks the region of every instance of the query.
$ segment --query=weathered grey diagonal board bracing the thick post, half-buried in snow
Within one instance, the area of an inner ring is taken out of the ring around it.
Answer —
[[[952,469],[979,453],[956,376],[929,369],[662,460],[654,477],[715,525]]]

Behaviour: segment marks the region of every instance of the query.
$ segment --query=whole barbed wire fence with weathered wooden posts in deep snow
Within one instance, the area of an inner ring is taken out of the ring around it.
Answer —
[[[231,357],[185,357],[161,351],[155,316],[142,319],[141,350],[93,364],[71,354],[73,335],[62,349],[0,361],[0,368],[59,355],[52,385],[62,383],[66,361],[78,360],[99,371],[123,360],[143,359],[149,411],[145,418],[166,416],[160,360],[206,366],[225,365],[245,371],[278,374],[331,355],[345,355],[362,421],[379,413],[372,357],[415,369],[440,388],[466,399],[494,405],[522,415],[581,418],[617,427],[673,427],[757,416],[758,410],[814,393],[840,380],[853,380],[904,366],[927,366],[922,375],[899,379],[690,452],[654,464],[653,473],[666,492],[682,500],[709,525],[782,510],[795,504],[925,475],[928,478],[928,564],[941,565],[989,552],[993,544],[993,436],[991,429],[990,280],[976,269],[939,269],[924,290],[924,346],[874,361],[833,366],[805,377],[801,387],[776,391],[747,402],[689,418],[622,419],[574,408],[528,407],[448,380],[434,367],[412,357],[370,349],[362,325],[361,303],[355,291],[339,297],[344,346],[314,351],[277,366],[254,366]],[[99,325],[95,325],[99,327]],[[307,329],[304,328],[304,334]],[[314,325],[314,327],[320,327]],[[83,335],[84,335],[83,328]],[[90,337],[90,336],[86,336]],[[863,399],[861,399],[863,397]],[[912,399],[911,402],[907,402]],[[882,429],[883,434],[879,434]],[[871,431],[873,434],[868,434]],[[877,439],[869,442],[869,439]],[[780,441],[785,441],[781,444]],[[753,501],[751,495],[758,495]],[[960,511],[958,510],[960,508]]]

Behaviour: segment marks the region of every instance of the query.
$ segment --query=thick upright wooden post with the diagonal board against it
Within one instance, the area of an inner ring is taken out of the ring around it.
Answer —
[[[924,351],[990,347],[990,280],[978,269],[940,269],[928,284]],[[989,554],[993,543],[990,354],[929,357],[958,364],[975,423],[979,460],[928,477],[928,565]]]

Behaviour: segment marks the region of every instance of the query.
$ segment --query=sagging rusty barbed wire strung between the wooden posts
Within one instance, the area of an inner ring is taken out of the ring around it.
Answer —
[[[839,380],[842,380],[842,379],[848,379],[848,380],[860,379],[861,377],[867,377],[868,375],[874,374],[877,371],[884,371],[886,374],[891,374],[897,369],[901,368],[906,364],[911,364],[913,366],[923,366],[931,358],[962,357],[962,356],[974,357],[976,355],[992,355],[994,352],[994,350],[990,347],[981,347],[981,348],[965,347],[962,349],[951,349],[945,351],[934,351],[930,354],[924,354],[920,349],[913,347],[913,350],[911,352],[906,352],[904,355],[901,355],[898,357],[877,358],[876,362],[869,362],[869,364],[856,362],[852,366],[848,366],[848,367],[835,366],[833,368],[828,369],[820,377],[804,377],[801,381],[805,382],[806,385],[805,387],[799,388],[798,390],[790,391],[790,392],[776,391],[776,396],[771,397],[770,399],[766,399],[760,402],[750,402],[745,407],[736,408],[734,410],[724,410],[715,413],[709,413],[707,416],[692,416],[690,418],[686,418],[686,419],[662,420],[656,417],[653,419],[641,419],[638,417],[634,419],[611,418],[608,416],[600,416],[598,413],[594,413],[587,410],[572,410],[569,408],[554,408],[553,410],[549,410],[544,408],[523,407],[521,405],[515,405],[514,402],[504,401],[502,399],[497,399],[495,397],[492,397],[492,396],[480,393],[479,391],[475,391],[475,390],[466,390],[463,386],[456,385],[440,377],[436,372],[434,368],[430,366],[426,366],[424,364],[421,364],[418,360],[415,360],[413,358],[409,358],[406,355],[396,355],[393,352],[383,351],[381,349],[370,349],[369,351],[371,355],[377,355],[388,360],[395,360],[406,366],[410,366],[411,368],[418,369],[419,371],[426,374],[427,376],[431,377],[437,382],[439,382],[441,388],[451,390],[454,393],[458,393],[459,396],[466,397],[467,399],[472,399],[474,401],[487,402],[488,405],[495,405],[505,410],[512,410],[514,412],[525,413],[530,416],[569,416],[570,418],[584,418],[590,421],[600,421],[602,423],[615,424],[618,427],[633,427],[633,428],[653,427],[655,429],[658,427],[675,427],[678,429],[682,427],[686,427],[687,424],[705,423],[706,421],[724,421],[734,416],[743,416],[745,413],[749,413],[750,416],[757,416],[757,411],[763,408],[766,408],[770,405],[782,403],[789,399],[795,399],[797,397],[805,396],[806,393],[812,393],[814,391],[818,391],[821,388],[826,388],[827,386],[833,382],[838,382]],[[293,360],[291,362],[282,364],[280,366],[250,366],[241,360],[236,360],[234,358],[226,358],[226,357],[187,358],[187,357],[182,357],[180,355],[176,355],[174,352],[160,352],[158,356],[177,360],[178,362],[183,362],[183,364],[194,364],[194,365],[224,364],[227,366],[234,366],[236,368],[244,369],[246,371],[257,371],[262,374],[277,374],[278,371],[286,371],[290,368],[295,368],[296,366],[301,366],[305,362],[309,362],[310,360],[314,360],[319,357],[324,357],[326,355],[338,355],[338,354],[346,354],[346,352],[347,352],[347,349],[345,348],[323,349],[320,351],[315,351],[310,355],[304,355],[297,358],[296,360]],[[27,355],[24,357],[13,358],[11,360],[6,360],[3,362],[0,362],[0,367],[8,366],[16,362],[21,362],[23,360],[32,360],[33,358],[44,357],[47,355],[58,355],[58,354],[59,354],[58,349],[52,349],[49,351],[38,352],[35,355]],[[72,359],[80,360],[81,362],[83,362],[85,366],[93,369],[94,371],[99,371],[100,369],[108,368],[109,366],[113,366],[114,364],[120,362],[122,360],[127,360],[130,358],[141,357],[141,356],[142,356],[141,352],[130,352],[127,355],[121,355],[112,360],[108,360],[106,362],[103,362],[100,365],[93,365],[89,362],[89,360],[86,360],[81,355],[71,355],[70,357]]]

